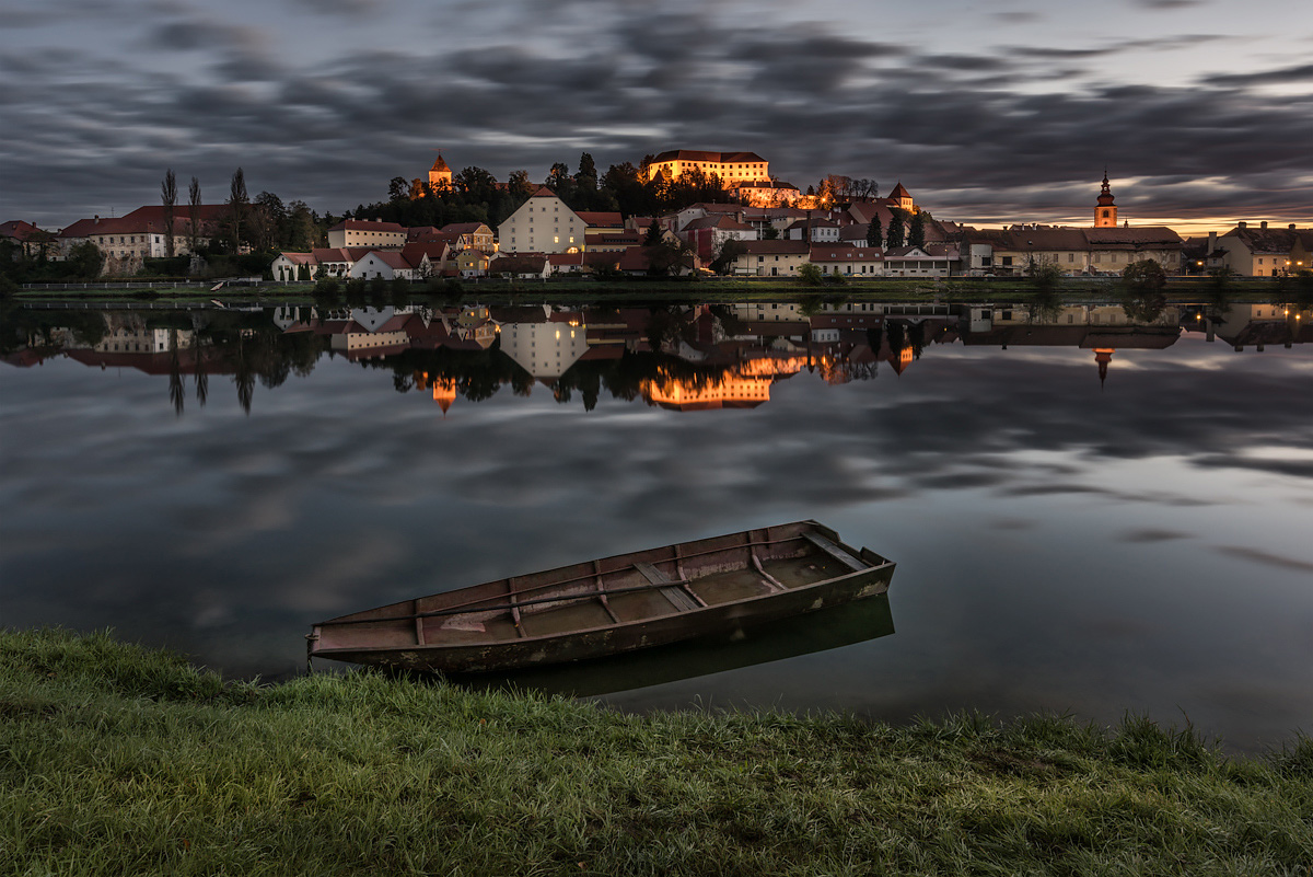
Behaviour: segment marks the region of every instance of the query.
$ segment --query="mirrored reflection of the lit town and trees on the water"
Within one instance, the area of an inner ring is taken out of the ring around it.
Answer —
[[[509,387],[546,387],[586,410],[603,391],[676,411],[752,408],[804,370],[839,385],[902,374],[936,348],[1049,347],[1088,351],[1091,379],[1117,357],[1166,349],[1184,333],[1236,351],[1313,340],[1309,302],[1113,303],[750,302],[653,307],[406,305],[113,310],[12,307],[0,354],[12,366],[67,357],[98,369],[168,378],[177,414],[231,379],[243,410],[256,385],[273,390],[326,358],[391,372],[400,393],[423,393],[445,415]]]

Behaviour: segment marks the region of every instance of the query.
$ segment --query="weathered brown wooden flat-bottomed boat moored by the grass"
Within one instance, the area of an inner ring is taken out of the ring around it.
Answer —
[[[310,658],[445,672],[583,660],[885,593],[894,563],[815,521],[487,582],[314,625]]]

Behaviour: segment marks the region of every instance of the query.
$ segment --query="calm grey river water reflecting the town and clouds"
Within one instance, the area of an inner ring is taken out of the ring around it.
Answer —
[[[280,677],[324,617],[814,517],[898,562],[897,633],[607,700],[1279,744],[1313,730],[1313,314],[1132,312],[11,310],[0,624]]]

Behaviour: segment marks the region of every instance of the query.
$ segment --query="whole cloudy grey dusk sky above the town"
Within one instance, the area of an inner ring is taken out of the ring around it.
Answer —
[[[221,201],[341,213],[423,176],[751,150],[935,217],[1313,225],[1313,4],[0,0],[0,221]]]

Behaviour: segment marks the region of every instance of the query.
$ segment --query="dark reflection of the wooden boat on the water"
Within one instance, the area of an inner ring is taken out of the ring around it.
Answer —
[[[888,637],[893,631],[889,596],[878,595],[796,618],[607,659],[513,674],[449,674],[446,679],[478,689],[609,695],[842,649]]]

